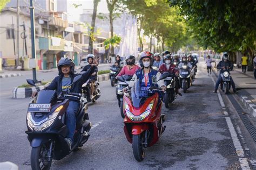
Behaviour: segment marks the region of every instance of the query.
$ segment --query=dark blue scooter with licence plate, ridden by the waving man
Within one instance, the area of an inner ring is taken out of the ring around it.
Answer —
[[[81,79],[76,76],[73,83]],[[91,122],[86,112],[86,98],[82,94],[62,91],[59,95],[54,90],[39,90],[33,80],[26,80],[35,86],[38,94],[33,98],[28,107],[26,125],[28,140],[32,147],[31,168],[50,169],[52,159],[60,160],[73,151],[78,151],[90,137]],[[73,84],[72,83],[72,84]],[[80,107],[76,115],[76,131],[71,150],[64,140],[68,131],[65,111],[69,106],[69,99],[76,97],[80,100]]]

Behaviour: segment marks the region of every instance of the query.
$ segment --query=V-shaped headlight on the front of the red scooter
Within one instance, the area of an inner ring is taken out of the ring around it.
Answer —
[[[126,116],[129,117],[132,121],[142,121],[144,118],[146,118],[147,116],[150,115],[150,112],[152,110],[153,107],[153,101],[151,101],[151,103],[147,106],[146,111],[144,111],[142,114],[140,114],[139,116],[135,116],[130,112],[129,106],[128,104],[125,104],[125,112],[126,112]]]

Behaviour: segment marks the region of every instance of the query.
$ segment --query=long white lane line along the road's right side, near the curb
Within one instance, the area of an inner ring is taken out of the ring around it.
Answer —
[[[211,79],[212,79],[213,83],[215,84],[215,81],[212,76],[211,76]],[[219,90],[217,90],[217,93],[218,93],[218,98],[219,98],[221,107],[225,107],[223,98],[221,97]],[[226,111],[224,111],[224,115],[228,116],[228,113]],[[231,138],[232,138],[235,150],[237,152],[237,155],[238,155],[238,157],[241,157],[241,158],[239,158],[241,169],[250,169],[247,158],[244,158],[245,157],[244,149],[242,148],[241,143],[237,137],[237,132],[235,132],[235,129],[231,122],[231,119],[230,119],[230,117],[225,117],[225,119],[226,119],[228,130],[230,131]]]

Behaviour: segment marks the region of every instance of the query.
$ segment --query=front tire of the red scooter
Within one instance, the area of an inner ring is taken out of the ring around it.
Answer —
[[[146,148],[143,146],[143,134],[133,134],[132,150],[133,156],[137,161],[142,161],[145,157]]]

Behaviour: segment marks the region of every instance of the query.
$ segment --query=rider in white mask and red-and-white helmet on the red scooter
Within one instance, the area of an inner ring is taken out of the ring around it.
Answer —
[[[129,82],[129,87],[133,87],[134,83],[136,83],[139,79],[141,82],[141,89],[147,90],[151,87],[151,85],[153,85],[161,87],[162,90],[166,90],[164,80],[159,80],[161,73],[152,68],[153,54],[150,51],[140,53],[139,64],[142,68],[139,68],[133,75],[132,80]],[[124,88],[123,91],[126,91],[126,88]]]

